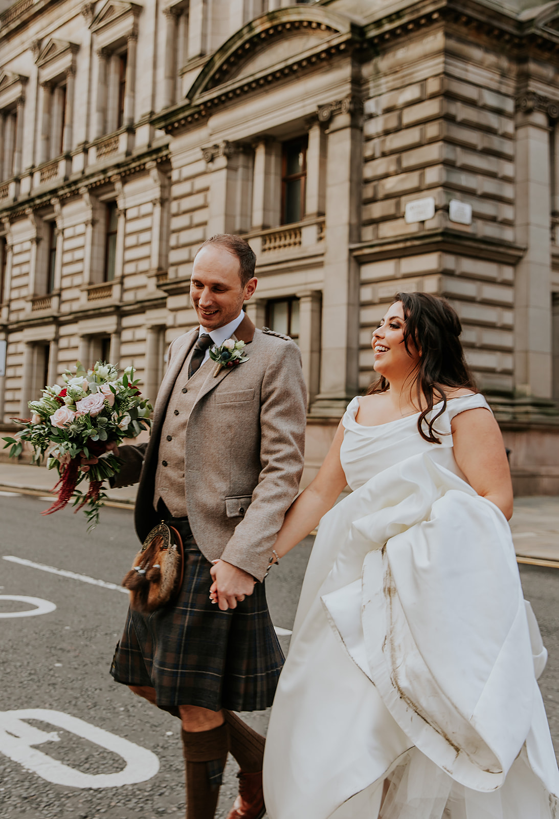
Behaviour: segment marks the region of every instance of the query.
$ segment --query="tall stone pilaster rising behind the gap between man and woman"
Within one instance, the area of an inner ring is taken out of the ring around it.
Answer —
[[[327,247],[322,291],[320,393],[311,414],[339,417],[358,392],[358,265],[349,245],[358,241],[361,188],[361,106],[351,97],[322,106],[327,122]]]

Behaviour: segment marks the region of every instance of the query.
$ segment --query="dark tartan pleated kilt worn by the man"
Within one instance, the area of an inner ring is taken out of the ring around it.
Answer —
[[[155,688],[160,708],[268,708],[284,657],[264,583],[256,583],[237,609],[221,611],[210,601],[211,563],[187,520],[169,523],[183,538],[183,585],[171,603],[151,614],[128,609],[110,674],[127,686]]]

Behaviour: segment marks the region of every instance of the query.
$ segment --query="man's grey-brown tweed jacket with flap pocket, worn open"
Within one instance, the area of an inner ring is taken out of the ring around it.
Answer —
[[[245,316],[233,336],[249,360],[205,378],[187,423],[188,521],[202,554],[262,581],[303,470],[306,391],[299,347],[257,330]],[[153,496],[159,441],[169,396],[198,328],[169,347],[148,444],[122,446],[115,486],[137,482],[135,525],[145,539],[159,523]]]

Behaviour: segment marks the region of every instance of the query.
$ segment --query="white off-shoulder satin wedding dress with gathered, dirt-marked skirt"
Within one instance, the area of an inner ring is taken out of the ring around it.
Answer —
[[[353,492],[328,512],[268,727],[270,819],[551,819],[559,772],[536,681],[547,653],[507,520],[453,457],[449,400],[363,427],[344,416]],[[440,407],[439,407],[440,409]]]

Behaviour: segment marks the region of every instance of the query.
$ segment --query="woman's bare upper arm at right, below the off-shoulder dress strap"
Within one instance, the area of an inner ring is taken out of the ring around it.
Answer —
[[[487,409],[468,409],[453,418],[454,458],[467,482],[512,516],[512,481],[501,430]]]

